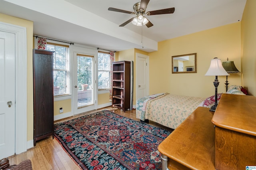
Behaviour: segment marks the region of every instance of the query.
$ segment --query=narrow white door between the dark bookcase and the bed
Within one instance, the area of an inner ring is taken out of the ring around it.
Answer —
[[[148,55],[136,53],[136,100],[148,95]]]

